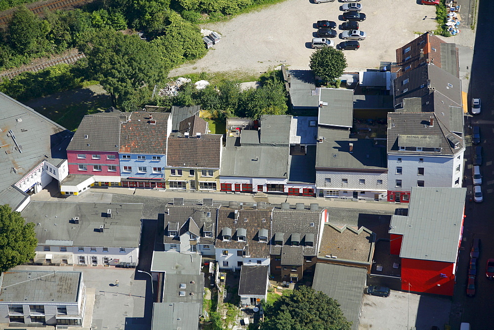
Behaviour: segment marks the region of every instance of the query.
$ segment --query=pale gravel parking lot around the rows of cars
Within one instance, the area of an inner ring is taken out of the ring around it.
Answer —
[[[311,0],[312,1],[312,0]],[[348,69],[376,68],[380,61],[394,61],[395,49],[417,37],[413,32],[434,30],[435,7],[417,0],[363,0],[367,19],[360,29],[367,39],[359,50],[346,50]],[[175,77],[194,72],[245,71],[264,72],[280,64],[306,69],[314,51],[310,41],[316,37],[318,20],[343,22],[342,2],[316,4],[309,0],[286,0],[266,9],[238,16],[228,22],[203,28],[219,32],[221,42],[193,64],[170,72]],[[427,16],[427,18],[425,18]],[[341,33],[338,30],[338,33]],[[335,43],[342,40],[339,35]]]

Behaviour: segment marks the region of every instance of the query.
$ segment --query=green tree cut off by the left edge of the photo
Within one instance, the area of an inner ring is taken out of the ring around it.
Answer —
[[[34,223],[25,223],[20,212],[0,206],[0,272],[34,258],[38,245]]]

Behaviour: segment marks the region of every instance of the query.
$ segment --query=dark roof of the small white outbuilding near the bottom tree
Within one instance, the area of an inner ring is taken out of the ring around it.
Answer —
[[[268,289],[269,266],[242,265],[239,295],[265,295]]]

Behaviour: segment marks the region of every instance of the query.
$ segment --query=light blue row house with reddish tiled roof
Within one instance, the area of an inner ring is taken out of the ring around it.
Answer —
[[[120,172],[123,187],[165,188],[169,113],[132,112],[122,124]]]

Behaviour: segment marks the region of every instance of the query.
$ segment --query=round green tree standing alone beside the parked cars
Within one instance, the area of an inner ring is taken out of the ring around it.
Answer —
[[[343,74],[346,65],[343,52],[333,47],[318,49],[310,56],[309,66],[311,70],[329,84],[334,83],[336,78]]]

